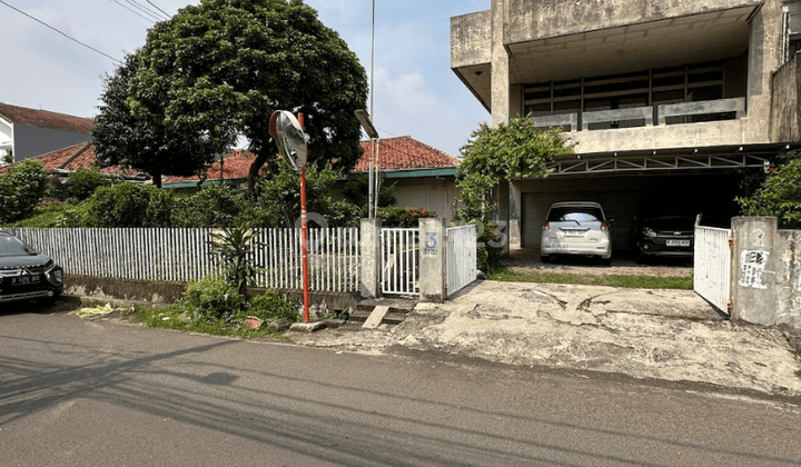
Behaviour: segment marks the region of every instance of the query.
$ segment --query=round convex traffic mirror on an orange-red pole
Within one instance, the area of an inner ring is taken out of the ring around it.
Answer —
[[[308,135],[304,132],[303,113],[294,115],[276,110],[270,117],[270,135],[278,145],[278,151],[289,167],[300,172],[300,256],[303,258],[304,322],[309,321],[308,286],[308,225],[306,222],[306,157]]]

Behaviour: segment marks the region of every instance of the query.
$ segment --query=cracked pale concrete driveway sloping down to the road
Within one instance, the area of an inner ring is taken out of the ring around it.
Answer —
[[[396,328],[289,336],[801,396],[801,358],[780,330],[731,322],[693,291],[485,280],[445,304],[418,304]]]

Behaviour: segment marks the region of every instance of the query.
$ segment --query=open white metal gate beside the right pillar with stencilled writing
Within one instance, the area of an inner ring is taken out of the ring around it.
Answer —
[[[693,289],[721,311],[731,301],[730,229],[695,227]]]

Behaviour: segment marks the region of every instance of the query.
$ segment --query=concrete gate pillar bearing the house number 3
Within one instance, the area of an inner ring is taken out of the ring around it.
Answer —
[[[447,298],[447,230],[445,219],[421,219],[421,301],[442,304]]]

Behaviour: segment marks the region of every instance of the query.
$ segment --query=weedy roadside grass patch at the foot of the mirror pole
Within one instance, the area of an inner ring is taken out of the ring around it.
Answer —
[[[177,305],[167,308],[136,309],[139,322],[149,328],[174,329],[188,332],[200,332],[212,336],[230,336],[256,338],[270,336],[276,340],[287,340],[280,332],[267,327],[253,329],[248,326],[230,326],[221,319],[181,319],[182,309]]]

